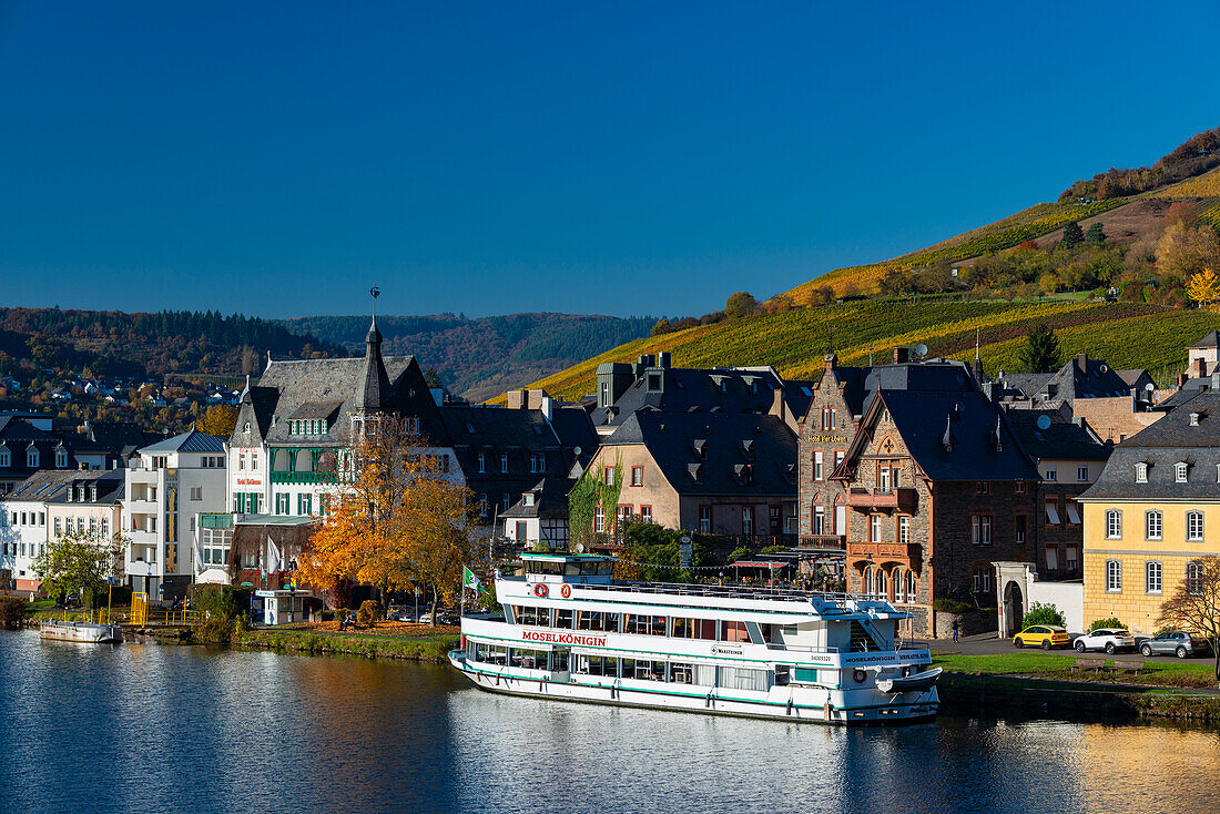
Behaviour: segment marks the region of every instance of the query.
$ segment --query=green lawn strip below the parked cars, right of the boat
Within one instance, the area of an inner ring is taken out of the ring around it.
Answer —
[[[1191,687],[1214,690],[1216,686],[1211,659],[1190,661],[1150,660],[1139,675],[1130,672],[1111,672],[1102,670],[1071,670],[1076,661],[1075,654],[1058,653],[998,653],[988,655],[964,655],[961,653],[937,653],[932,663],[944,668],[946,672],[969,672],[978,675],[1020,676],[1044,679],[1048,681],[1072,681],[1078,683],[1107,685],[1154,685],[1165,687]],[[1089,654],[1086,658],[1103,658]],[[1122,657],[1119,657],[1120,660]],[[1114,665],[1114,659],[1105,659],[1107,666]]]

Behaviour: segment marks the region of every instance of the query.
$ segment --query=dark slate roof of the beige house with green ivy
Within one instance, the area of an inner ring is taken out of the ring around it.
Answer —
[[[639,411],[603,442],[627,444],[644,444],[678,494],[797,495],[797,436],[771,415]]]

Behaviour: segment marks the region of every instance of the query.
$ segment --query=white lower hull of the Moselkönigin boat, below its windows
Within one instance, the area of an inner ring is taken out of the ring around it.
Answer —
[[[841,702],[836,704],[832,691],[819,687],[777,686],[766,692],[750,692],[727,687],[678,688],[672,683],[648,688],[642,685],[650,682],[623,682],[593,676],[573,679],[570,674],[562,674],[566,680],[553,680],[467,664],[465,650],[450,652],[449,663],[477,687],[489,692],[712,715],[810,724],[899,724],[932,719],[939,707],[935,687],[926,692],[898,696],[875,690],[834,692],[833,696]]]

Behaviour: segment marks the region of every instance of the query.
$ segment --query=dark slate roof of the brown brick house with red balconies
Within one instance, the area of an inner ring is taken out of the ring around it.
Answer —
[[[1016,442],[1011,426],[978,391],[882,391],[880,403],[924,474],[933,481],[1037,481],[1033,463]],[[996,437],[999,432],[999,449]],[[856,433],[848,463],[866,441]],[[944,438],[953,442],[946,449]]]

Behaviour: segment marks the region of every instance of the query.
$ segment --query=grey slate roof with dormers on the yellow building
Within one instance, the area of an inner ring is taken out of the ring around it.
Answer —
[[[1191,414],[1199,414],[1191,426]],[[1097,482],[1081,499],[1220,499],[1220,393],[1199,393],[1118,447]],[[1148,465],[1148,482],[1136,483],[1136,464]],[[1187,481],[1176,481],[1175,464],[1190,464]]]

